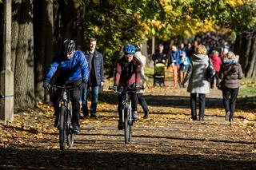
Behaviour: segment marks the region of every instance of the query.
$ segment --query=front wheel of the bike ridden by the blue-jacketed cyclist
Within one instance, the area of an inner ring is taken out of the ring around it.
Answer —
[[[66,145],[66,107],[61,106],[59,109],[59,129],[58,129],[58,135],[59,135],[59,147],[61,150],[65,149]]]

